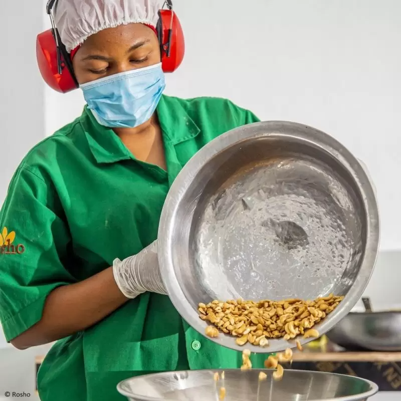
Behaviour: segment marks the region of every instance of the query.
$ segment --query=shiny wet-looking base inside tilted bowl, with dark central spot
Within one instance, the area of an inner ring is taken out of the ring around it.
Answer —
[[[212,297],[316,298],[359,265],[363,216],[327,167],[283,155],[237,177],[195,229],[196,274]]]

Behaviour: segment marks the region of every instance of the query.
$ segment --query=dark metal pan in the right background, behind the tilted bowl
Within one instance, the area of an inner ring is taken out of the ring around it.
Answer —
[[[401,351],[401,312],[351,312],[327,337],[349,350]]]

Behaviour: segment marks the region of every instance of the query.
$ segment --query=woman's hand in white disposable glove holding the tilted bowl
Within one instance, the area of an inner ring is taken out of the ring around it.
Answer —
[[[122,262],[116,259],[113,273],[118,288],[129,299],[146,291],[167,295],[157,260],[157,241]]]

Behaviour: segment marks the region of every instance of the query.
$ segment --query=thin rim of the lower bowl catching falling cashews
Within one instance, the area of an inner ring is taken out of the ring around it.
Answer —
[[[170,373],[186,373],[188,371],[190,372],[202,372],[205,370],[209,370],[211,372],[221,372],[221,371],[233,371],[233,370],[240,370],[240,369],[195,369],[195,370],[177,370],[174,372],[170,372]],[[323,401],[361,401],[364,399],[367,399],[369,397],[371,397],[372,395],[376,394],[379,390],[379,387],[376,383],[374,383],[371,380],[367,380],[365,378],[362,377],[357,377],[357,376],[349,376],[347,374],[342,374],[342,373],[333,373],[333,372],[321,372],[321,371],[311,371],[311,370],[301,370],[301,369],[286,369],[287,371],[291,371],[291,372],[313,372],[314,374],[320,374],[320,375],[330,375],[330,376],[342,376],[342,377],[352,377],[353,379],[359,380],[359,381],[363,381],[367,384],[370,385],[370,389],[368,391],[365,392],[361,392],[359,394],[354,394],[354,395],[344,395],[342,397],[337,397],[337,398],[325,398],[323,399]],[[257,371],[257,372],[265,372],[265,373],[270,373],[273,372],[274,369],[248,369],[248,371]],[[125,380],[120,381],[117,384],[117,391],[121,394],[124,395],[128,398],[135,398],[135,399],[141,399],[143,401],[160,401],[160,398],[156,398],[156,397],[150,397],[148,395],[139,395],[139,394],[134,394],[134,393],[129,393],[128,391],[124,390],[122,388],[122,386],[124,385],[125,382],[133,380],[135,378],[140,378],[140,377],[157,377],[157,376],[162,376],[163,374],[165,374],[166,372],[157,372],[157,373],[149,373],[149,374],[144,374],[141,376],[134,376],[134,377],[130,377],[127,378]],[[284,371],[285,374],[285,371]],[[357,397],[357,398],[355,398]],[[163,401],[175,401],[175,399],[169,399],[169,398],[163,398]],[[309,401],[322,401],[321,398],[315,398],[315,399],[309,399]]]

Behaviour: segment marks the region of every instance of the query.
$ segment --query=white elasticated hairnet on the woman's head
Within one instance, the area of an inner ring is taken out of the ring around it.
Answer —
[[[54,20],[68,52],[106,28],[141,23],[156,27],[164,0],[58,0]]]

